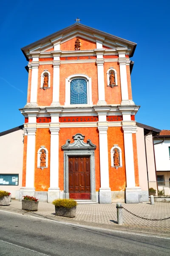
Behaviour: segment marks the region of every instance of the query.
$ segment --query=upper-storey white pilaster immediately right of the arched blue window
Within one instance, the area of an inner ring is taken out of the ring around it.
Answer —
[[[98,82],[98,102],[97,105],[106,105],[105,101],[105,81],[104,81],[104,58],[105,49],[95,49],[97,64],[97,82]]]

